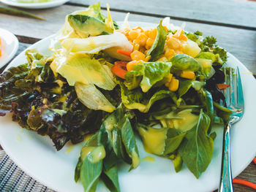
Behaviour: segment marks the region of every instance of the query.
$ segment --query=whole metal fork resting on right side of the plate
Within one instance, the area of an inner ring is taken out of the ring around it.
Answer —
[[[230,164],[230,128],[233,123],[238,122],[244,114],[244,96],[241,84],[240,72],[237,67],[236,74],[232,68],[225,69],[225,81],[229,88],[225,90],[227,109],[232,111],[230,119],[225,123],[222,146],[222,171],[219,183],[219,192],[233,192],[231,164]]]

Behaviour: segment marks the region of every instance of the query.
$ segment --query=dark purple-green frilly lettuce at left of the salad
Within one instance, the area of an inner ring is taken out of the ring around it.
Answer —
[[[75,88],[63,77],[54,76],[48,57],[35,50],[26,55],[28,64],[0,75],[0,114],[13,112],[13,120],[23,128],[48,135],[57,150],[69,140],[75,144],[99,130],[105,112],[80,103]]]

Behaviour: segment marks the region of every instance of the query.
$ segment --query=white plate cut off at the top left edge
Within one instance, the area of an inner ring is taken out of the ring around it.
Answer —
[[[8,4],[14,7],[22,7],[26,9],[45,9],[45,8],[60,6],[61,4],[64,4],[69,0],[51,0],[48,2],[42,2],[42,3],[19,3],[16,0],[0,0],[0,1],[4,4]]]

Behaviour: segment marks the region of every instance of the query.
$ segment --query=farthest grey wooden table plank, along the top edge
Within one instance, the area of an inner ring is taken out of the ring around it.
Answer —
[[[89,6],[96,1],[72,0],[68,4]],[[124,10],[154,17],[166,17],[198,23],[252,28],[256,30],[256,3],[234,0],[178,0],[178,1],[116,1],[100,0],[102,7],[110,4],[110,9]]]

